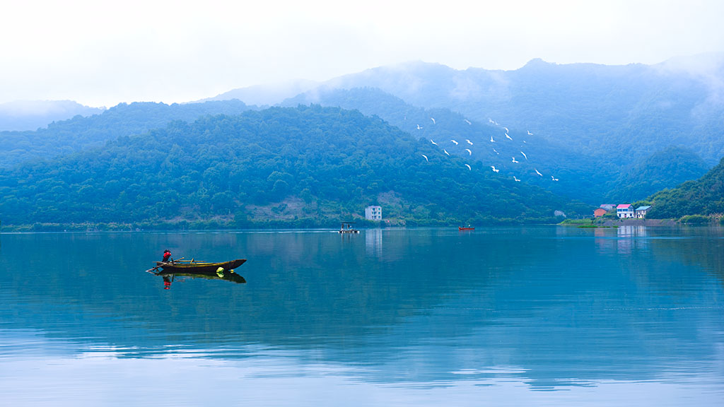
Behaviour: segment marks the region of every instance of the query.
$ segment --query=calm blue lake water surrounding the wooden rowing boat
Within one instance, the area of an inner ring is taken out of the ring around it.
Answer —
[[[7,406],[724,403],[720,228],[2,234],[0,303]]]

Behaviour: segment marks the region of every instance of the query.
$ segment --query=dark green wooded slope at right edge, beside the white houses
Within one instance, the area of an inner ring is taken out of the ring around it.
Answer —
[[[665,189],[648,200],[652,209],[647,217],[681,218],[687,215],[721,217],[724,214],[724,159],[698,180]]]

